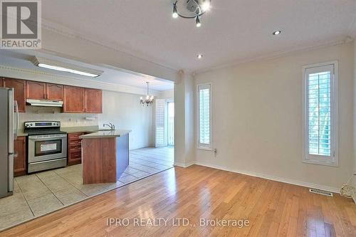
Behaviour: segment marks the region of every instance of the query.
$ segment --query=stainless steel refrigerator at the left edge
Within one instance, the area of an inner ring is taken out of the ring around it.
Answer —
[[[18,127],[14,89],[0,88],[0,198],[12,195],[14,190],[14,140]]]

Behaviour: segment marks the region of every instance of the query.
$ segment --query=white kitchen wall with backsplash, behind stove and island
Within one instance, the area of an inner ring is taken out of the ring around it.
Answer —
[[[25,121],[53,120],[61,121],[62,127],[103,127],[103,123],[112,122],[118,129],[132,130],[130,149],[148,147],[153,145],[153,107],[143,107],[139,99],[139,95],[103,90],[103,114],[67,114],[58,108],[27,106],[26,113],[20,113],[20,124],[23,128]],[[95,120],[85,120],[85,117],[95,117]]]

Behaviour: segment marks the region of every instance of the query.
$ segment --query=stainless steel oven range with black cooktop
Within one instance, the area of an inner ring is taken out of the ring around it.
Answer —
[[[25,122],[28,134],[28,173],[66,167],[67,133],[61,122]]]

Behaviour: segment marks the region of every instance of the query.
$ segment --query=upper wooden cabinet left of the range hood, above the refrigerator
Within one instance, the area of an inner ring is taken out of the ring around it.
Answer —
[[[26,112],[26,80],[1,78],[1,87],[14,88],[14,100],[19,105],[19,112]]]

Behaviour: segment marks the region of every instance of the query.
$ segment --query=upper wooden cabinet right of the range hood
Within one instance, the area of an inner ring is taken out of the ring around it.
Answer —
[[[64,86],[63,112],[85,112],[85,88]]]

